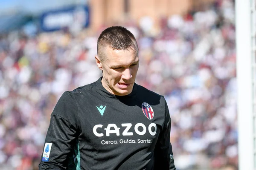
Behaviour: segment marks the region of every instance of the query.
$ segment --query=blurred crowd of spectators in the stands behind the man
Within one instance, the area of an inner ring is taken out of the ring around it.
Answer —
[[[122,26],[134,33],[136,82],[165,96],[177,170],[236,170],[236,48],[233,0]],[[64,29],[0,37],[0,166],[36,170],[50,114],[64,91],[101,76],[100,32]]]

